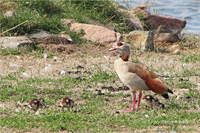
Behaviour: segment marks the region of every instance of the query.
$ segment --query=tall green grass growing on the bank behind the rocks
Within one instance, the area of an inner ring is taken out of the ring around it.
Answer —
[[[4,2],[6,2],[4,0]],[[61,24],[62,18],[75,19],[77,22],[87,23],[87,19],[94,19],[101,23],[110,23],[115,26],[118,32],[127,32],[128,23],[126,18],[117,11],[115,4],[109,0],[105,1],[12,1],[12,7],[16,11],[16,18],[5,18],[3,13],[7,11],[7,7],[3,6],[1,14],[1,31],[6,31],[26,20],[29,22],[23,24],[4,35],[24,35],[37,32],[38,30],[46,30],[54,34],[60,31],[68,30]],[[73,32],[69,32],[72,38]],[[77,36],[77,35],[75,35]],[[76,40],[74,40],[76,43]]]

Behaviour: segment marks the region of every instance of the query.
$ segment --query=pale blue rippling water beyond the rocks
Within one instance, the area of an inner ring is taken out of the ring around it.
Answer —
[[[152,2],[147,9],[152,14],[171,16],[187,21],[182,32],[200,35],[200,0],[116,0],[132,9],[140,4]]]

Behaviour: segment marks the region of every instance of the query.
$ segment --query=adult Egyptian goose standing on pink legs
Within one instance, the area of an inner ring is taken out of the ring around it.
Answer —
[[[166,99],[169,98],[168,92],[173,94],[173,92],[167,88],[163,80],[148,67],[142,63],[128,61],[131,52],[131,47],[129,44],[125,42],[118,42],[117,45],[109,49],[109,51],[114,50],[121,52],[120,58],[116,59],[114,62],[114,70],[116,71],[120,80],[132,90],[132,111],[136,110],[136,91],[139,91],[137,110],[139,109],[143,90],[151,90],[157,94],[161,94]]]

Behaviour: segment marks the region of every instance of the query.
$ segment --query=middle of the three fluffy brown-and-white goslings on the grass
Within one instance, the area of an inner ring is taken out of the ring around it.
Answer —
[[[64,111],[64,108],[73,108],[74,101],[68,97],[64,97],[60,100],[60,105],[58,105],[58,107],[61,107],[62,111]]]

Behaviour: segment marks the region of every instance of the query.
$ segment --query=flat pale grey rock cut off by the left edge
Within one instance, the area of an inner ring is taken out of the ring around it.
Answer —
[[[32,41],[25,36],[0,37],[0,46],[5,48],[17,48],[20,45],[32,44]]]

